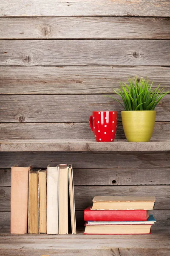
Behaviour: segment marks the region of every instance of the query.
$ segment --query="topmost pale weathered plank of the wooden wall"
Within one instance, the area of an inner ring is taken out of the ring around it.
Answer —
[[[57,8],[56,8],[57,6]],[[170,16],[168,0],[2,0],[0,16]]]

